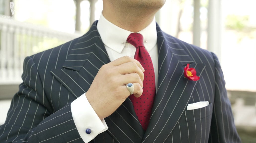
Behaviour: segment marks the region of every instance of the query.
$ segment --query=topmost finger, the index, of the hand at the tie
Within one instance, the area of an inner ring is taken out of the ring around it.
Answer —
[[[135,59],[129,57],[129,56],[123,56],[123,57],[121,57],[121,58],[118,58],[118,59],[112,61],[111,64],[112,64],[113,66],[119,66],[119,65],[121,65],[121,64],[128,63],[128,62],[134,62],[134,63],[136,63],[136,64],[138,65],[138,67],[141,68],[142,72],[143,72],[143,73],[145,72],[145,69],[142,67],[141,63],[140,63],[139,61],[137,61],[137,60],[135,60]]]

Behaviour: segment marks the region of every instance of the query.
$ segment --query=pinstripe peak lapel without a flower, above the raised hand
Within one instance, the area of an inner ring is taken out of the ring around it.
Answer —
[[[51,70],[75,98],[87,92],[100,67],[110,62],[96,24],[94,22],[85,35],[69,45],[63,68]]]

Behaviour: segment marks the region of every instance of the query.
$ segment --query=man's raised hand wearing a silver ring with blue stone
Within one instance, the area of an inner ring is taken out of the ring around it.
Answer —
[[[86,97],[101,120],[111,115],[129,97],[126,84],[133,83],[135,97],[142,95],[144,71],[140,62],[129,56],[100,68]]]

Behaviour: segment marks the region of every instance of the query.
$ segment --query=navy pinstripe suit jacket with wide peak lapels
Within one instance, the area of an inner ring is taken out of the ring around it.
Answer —
[[[26,57],[24,82],[0,127],[1,142],[83,142],[70,103],[110,62],[96,25],[97,21],[82,37]],[[240,142],[216,55],[164,33],[157,24],[156,28],[158,91],[147,130],[143,131],[127,98],[105,118],[109,129],[91,142]],[[200,80],[184,78],[187,63]],[[199,101],[210,104],[186,110]]]

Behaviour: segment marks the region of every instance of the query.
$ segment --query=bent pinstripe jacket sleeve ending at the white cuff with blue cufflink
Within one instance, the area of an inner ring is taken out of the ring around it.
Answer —
[[[83,142],[70,103],[53,112],[31,57],[24,60],[23,69],[23,83],[12,99],[5,123],[0,126],[0,142]]]

